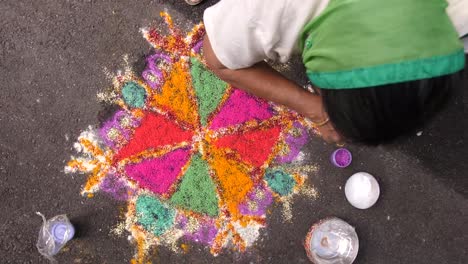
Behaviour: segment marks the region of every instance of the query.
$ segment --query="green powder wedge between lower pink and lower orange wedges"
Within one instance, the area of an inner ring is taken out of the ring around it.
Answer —
[[[200,155],[193,156],[179,189],[171,197],[171,203],[209,216],[218,215],[216,186],[210,177],[208,164]]]

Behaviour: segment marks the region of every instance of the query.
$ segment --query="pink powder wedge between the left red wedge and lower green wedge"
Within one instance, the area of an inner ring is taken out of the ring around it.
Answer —
[[[190,149],[178,149],[165,156],[129,164],[125,172],[140,187],[158,194],[166,193],[190,158]]]

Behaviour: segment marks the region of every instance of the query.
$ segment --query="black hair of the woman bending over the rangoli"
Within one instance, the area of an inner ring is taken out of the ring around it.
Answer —
[[[346,140],[378,145],[422,128],[460,85],[455,73],[361,89],[321,89],[325,110]]]

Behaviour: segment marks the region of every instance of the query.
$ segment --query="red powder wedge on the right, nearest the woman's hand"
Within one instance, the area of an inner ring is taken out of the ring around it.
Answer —
[[[254,130],[243,134],[224,136],[214,145],[218,148],[228,148],[236,151],[241,159],[260,167],[271,154],[278,141],[281,128],[275,126],[264,130]]]

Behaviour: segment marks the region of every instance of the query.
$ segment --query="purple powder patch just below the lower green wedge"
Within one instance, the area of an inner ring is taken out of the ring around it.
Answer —
[[[177,217],[177,227],[184,231],[184,237],[186,239],[210,246],[213,244],[216,234],[218,233],[215,222],[211,218],[203,218],[196,230],[188,230],[189,224],[187,217],[183,214],[179,214]]]

